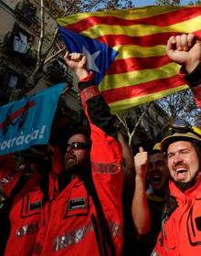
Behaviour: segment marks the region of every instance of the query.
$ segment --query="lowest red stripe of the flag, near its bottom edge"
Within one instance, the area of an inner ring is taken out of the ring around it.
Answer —
[[[112,103],[115,101],[122,101],[144,95],[149,97],[150,93],[162,92],[164,90],[172,89],[184,84],[184,80],[176,75],[167,79],[151,80],[138,85],[130,85],[108,91],[101,91],[101,94],[108,103]]]

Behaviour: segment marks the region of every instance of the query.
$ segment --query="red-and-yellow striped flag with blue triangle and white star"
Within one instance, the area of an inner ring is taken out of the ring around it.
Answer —
[[[173,35],[201,38],[201,5],[82,13],[58,25],[69,52],[88,56],[111,112],[119,112],[187,88],[165,46]]]

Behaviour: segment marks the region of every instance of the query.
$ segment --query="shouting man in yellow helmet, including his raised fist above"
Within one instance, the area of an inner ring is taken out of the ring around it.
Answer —
[[[193,34],[170,37],[167,55],[182,65],[181,73],[201,107],[201,44]],[[201,131],[177,121],[161,143],[172,176],[169,203],[153,255],[201,254]]]

